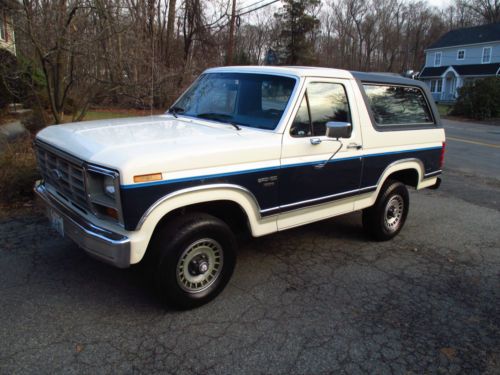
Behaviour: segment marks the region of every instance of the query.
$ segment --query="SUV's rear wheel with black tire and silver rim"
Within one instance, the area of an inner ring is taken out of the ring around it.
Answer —
[[[399,181],[388,180],[375,204],[363,210],[363,227],[379,241],[390,240],[403,228],[409,207],[406,186]]]

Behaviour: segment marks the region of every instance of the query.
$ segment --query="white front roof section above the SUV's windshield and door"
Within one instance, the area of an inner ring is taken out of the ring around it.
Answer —
[[[295,77],[329,77],[353,79],[351,72],[342,69],[318,68],[313,66],[223,66],[210,68],[205,73],[261,73],[279,74]]]

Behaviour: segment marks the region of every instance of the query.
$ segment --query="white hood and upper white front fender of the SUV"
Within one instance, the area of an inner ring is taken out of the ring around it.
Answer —
[[[171,115],[54,125],[37,139],[118,170],[122,184],[135,175],[278,160],[281,143],[273,132]]]

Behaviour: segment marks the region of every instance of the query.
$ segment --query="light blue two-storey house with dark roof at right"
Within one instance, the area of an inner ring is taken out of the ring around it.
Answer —
[[[434,100],[452,102],[465,82],[500,76],[500,23],[456,29],[425,50],[419,79]]]

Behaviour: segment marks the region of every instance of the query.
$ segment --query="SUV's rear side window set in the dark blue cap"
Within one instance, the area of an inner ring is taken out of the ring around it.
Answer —
[[[364,84],[377,125],[433,125],[424,93],[418,87]]]

